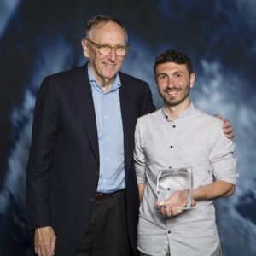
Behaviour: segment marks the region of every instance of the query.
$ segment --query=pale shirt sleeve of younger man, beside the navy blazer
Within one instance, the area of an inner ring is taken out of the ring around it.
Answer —
[[[135,129],[135,148],[134,148],[134,161],[135,161],[135,172],[137,176],[137,183],[147,183],[146,177],[146,157],[141,148],[141,138],[140,138],[140,125],[137,121]]]

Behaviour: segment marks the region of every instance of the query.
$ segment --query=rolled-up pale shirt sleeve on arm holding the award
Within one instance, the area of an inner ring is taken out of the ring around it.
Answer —
[[[236,185],[238,174],[236,173],[237,158],[234,157],[235,144],[225,137],[222,123],[213,125],[210,143],[209,161],[213,176],[216,180]]]

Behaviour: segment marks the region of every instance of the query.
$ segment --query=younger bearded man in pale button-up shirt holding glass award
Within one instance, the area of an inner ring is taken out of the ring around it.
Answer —
[[[234,143],[224,136],[219,119],[190,102],[195,73],[189,57],[166,50],[156,58],[154,75],[164,106],[139,118],[135,133],[134,158],[142,201],[138,249],[141,255],[220,256],[213,200],[235,191]],[[194,209],[187,204],[192,190],[179,185],[185,181],[187,167],[192,168],[193,197],[198,201]],[[157,183],[163,172],[176,176]],[[160,211],[154,204],[158,193],[167,197],[157,203]]]

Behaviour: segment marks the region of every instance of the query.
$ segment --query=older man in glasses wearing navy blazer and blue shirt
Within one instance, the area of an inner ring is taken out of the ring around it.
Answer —
[[[139,207],[133,137],[137,118],[154,111],[152,96],[147,83],[119,73],[129,49],[119,21],[93,17],[82,46],[89,62],[38,91],[28,228],[38,255],[130,255]]]

